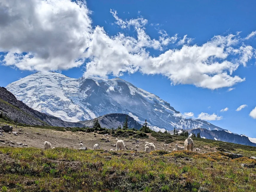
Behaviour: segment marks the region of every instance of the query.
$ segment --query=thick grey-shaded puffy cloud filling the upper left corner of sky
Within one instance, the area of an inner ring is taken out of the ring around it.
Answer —
[[[21,70],[66,70],[84,63],[92,31],[85,3],[1,0],[0,51]]]

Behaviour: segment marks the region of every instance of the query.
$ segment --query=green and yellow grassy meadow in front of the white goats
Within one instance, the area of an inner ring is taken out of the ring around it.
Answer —
[[[242,167],[246,163],[248,167]],[[256,191],[256,161],[223,152],[0,147],[0,191]]]

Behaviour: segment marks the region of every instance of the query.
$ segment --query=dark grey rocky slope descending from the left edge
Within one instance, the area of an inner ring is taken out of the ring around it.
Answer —
[[[58,127],[83,127],[81,123],[66,122],[58,117],[47,115],[31,109],[15,96],[0,87],[0,114],[10,120],[27,125],[51,125]]]

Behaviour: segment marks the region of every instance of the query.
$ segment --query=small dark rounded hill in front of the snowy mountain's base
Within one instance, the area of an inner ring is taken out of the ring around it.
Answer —
[[[125,121],[126,114],[123,113],[111,113],[111,114],[106,114],[100,117],[97,117],[95,119],[98,119],[99,123],[101,124],[101,127],[105,127],[107,129],[111,128],[117,128],[119,125],[123,126],[123,123]],[[93,127],[93,121],[92,120],[86,120],[86,121],[79,121],[79,123],[82,123],[85,125],[85,127]],[[140,129],[142,125],[135,121],[132,117],[128,116],[128,127],[129,128],[135,128],[135,129]]]

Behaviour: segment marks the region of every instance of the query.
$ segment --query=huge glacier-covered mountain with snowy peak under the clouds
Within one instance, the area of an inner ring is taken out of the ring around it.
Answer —
[[[108,113],[125,113],[137,122],[147,119],[157,130],[174,127],[223,130],[209,122],[184,119],[169,103],[120,78],[69,78],[55,72],[29,75],[7,85],[17,99],[64,121],[84,121]]]

